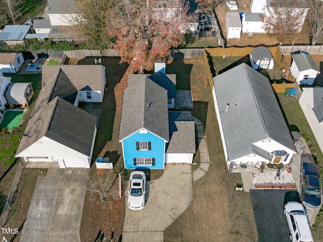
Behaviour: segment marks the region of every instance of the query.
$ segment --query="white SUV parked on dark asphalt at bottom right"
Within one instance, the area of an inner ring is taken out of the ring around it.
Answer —
[[[293,242],[313,242],[311,228],[304,207],[298,202],[289,202],[284,207],[289,227],[289,239]]]

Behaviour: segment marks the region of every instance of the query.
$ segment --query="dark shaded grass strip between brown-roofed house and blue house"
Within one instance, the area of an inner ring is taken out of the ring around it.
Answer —
[[[100,154],[107,141],[112,139],[113,126],[116,113],[115,86],[121,81],[128,63],[121,63],[118,57],[86,57],[80,60],[78,65],[94,64],[94,59],[101,59],[102,65],[105,67],[106,85],[102,103],[94,103],[93,109],[100,109],[100,118],[97,127],[95,144],[92,155],[92,163]]]

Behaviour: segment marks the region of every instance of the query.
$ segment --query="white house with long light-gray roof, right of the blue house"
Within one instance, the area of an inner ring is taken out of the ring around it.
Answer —
[[[226,164],[288,164],[296,150],[270,81],[243,63],[213,84]]]

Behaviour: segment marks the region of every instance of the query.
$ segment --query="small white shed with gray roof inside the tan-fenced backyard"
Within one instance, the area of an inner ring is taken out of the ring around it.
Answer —
[[[274,58],[271,51],[264,46],[254,47],[250,54],[253,69],[273,69]]]

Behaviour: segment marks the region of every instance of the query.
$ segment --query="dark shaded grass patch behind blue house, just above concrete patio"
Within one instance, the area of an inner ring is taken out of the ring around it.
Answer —
[[[178,59],[173,59],[166,64],[166,74],[176,74],[176,89],[190,90],[191,89],[191,71],[193,64],[184,62],[184,54],[177,53]]]

